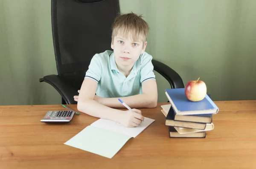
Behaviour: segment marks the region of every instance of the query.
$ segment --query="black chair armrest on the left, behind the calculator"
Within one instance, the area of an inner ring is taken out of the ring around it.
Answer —
[[[60,93],[62,99],[64,99],[67,104],[77,104],[73,97],[78,95],[77,90],[59,75],[44,76],[44,78],[39,79],[39,81],[47,82],[48,84],[52,85],[52,87],[54,87],[58,93]]]

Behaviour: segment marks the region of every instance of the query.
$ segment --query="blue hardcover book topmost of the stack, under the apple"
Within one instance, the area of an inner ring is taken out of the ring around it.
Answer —
[[[184,88],[166,89],[166,96],[177,115],[216,114],[219,110],[208,95],[201,101],[190,101]]]

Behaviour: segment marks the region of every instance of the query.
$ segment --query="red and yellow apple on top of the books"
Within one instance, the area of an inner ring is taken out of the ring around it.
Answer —
[[[190,101],[201,101],[206,95],[207,87],[199,79],[200,77],[197,80],[189,81],[185,86],[185,95]]]

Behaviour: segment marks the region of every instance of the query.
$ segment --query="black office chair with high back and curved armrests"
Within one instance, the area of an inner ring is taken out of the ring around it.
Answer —
[[[52,37],[58,75],[39,79],[52,85],[62,104],[77,104],[90,60],[96,53],[111,49],[111,25],[120,13],[119,0],[52,0]],[[175,70],[152,60],[154,70],[172,88],[184,87]]]

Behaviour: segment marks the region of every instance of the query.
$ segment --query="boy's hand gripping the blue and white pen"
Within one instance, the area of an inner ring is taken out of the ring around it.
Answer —
[[[132,109],[133,111],[126,110],[122,113],[119,123],[125,127],[137,127],[144,120],[141,111],[137,109]]]

